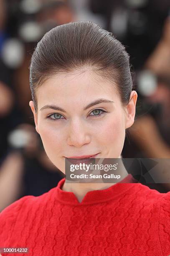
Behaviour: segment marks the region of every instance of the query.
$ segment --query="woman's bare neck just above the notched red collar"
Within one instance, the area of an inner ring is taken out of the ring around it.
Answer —
[[[119,158],[121,158],[121,156],[119,156]],[[120,171],[120,180],[119,182],[124,179],[125,177],[127,177],[128,172],[124,167],[124,164],[122,161],[121,162],[121,171]],[[93,181],[92,181],[93,182]],[[86,195],[87,192],[91,191],[91,190],[100,190],[100,189],[107,189],[108,187],[113,186],[116,183],[66,183],[64,182],[63,187],[61,188],[63,191],[66,192],[73,192],[74,195],[76,195],[77,200],[79,202],[81,202],[84,198],[84,196]]]

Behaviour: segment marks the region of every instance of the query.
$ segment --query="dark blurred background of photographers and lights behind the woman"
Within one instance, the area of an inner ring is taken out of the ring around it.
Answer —
[[[126,46],[138,93],[123,158],[170,159],[169,0],[0,0],[0,211],[64,177],[48,159],[29,107],[31,54],[44,33],[91,20]],[[170,184],[146,184],[161,193]]]

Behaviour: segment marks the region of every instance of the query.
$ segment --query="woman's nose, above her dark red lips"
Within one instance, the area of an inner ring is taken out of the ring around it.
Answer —
[[[72,121],[69,126],[69,136],[67,138],[68,145],[80,148],[84,144],[88,144],[90,141],[90,134],[84,123],[77,119]]]

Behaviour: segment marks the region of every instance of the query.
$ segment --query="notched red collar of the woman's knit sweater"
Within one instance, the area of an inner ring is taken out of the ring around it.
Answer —
[[[76,195],[74,192],[63,191],[62,186],[65,182],[66,178],[64,177],[58,182],[56,187],[56,194],[57,200],[62,203],[70,204],[70,205],[87,205],[87,204],[95,204],[100,202],[106,202],[111,199],[117,197],[117,195],[122,195],[127,192],[130,188],[134,186],[131,183],[137,183],[137,180],[133,178],[132,174],[128,174],[127,177],[122,179],[122,181],[113,184],[111,187],[107,189],[100,189],[100,190],[91,190],[86,193],[83,200],[79,202],[77,200]],[[130,183],[130,184],[128,184]]]

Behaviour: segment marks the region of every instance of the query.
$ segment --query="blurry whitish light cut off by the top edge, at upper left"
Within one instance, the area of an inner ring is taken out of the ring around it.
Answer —
[[[20,9],[27,14],[37,13],[41,8],[41,3],[38,0],[22,0]]]

